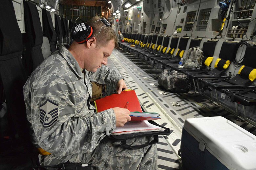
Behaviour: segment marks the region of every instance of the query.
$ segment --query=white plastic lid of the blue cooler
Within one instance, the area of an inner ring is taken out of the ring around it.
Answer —
[[[228,169],[256,170],[256,136],[224,117],[186,119],[184,129]]]

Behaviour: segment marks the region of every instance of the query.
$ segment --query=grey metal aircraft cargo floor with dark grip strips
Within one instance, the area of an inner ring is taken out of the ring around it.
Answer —
[[[114,49],[108,60],[108,67],[119,72],[125,78],[127,87],[136,91],[145,111],[158,112],[161,115],[160,120],[155,120],[157,123],[171,129],[169,136],[159,136],[157,144],[159,170],[181,169],[178,150],[181,144],[182,126],[186,118],[223,116],[256,135],[256,127],[237,119],[235,115],[200,94],[193,91],[188,93],[165,91],[158,86],[158,76],[162,70],[152,68],[129,52]]]

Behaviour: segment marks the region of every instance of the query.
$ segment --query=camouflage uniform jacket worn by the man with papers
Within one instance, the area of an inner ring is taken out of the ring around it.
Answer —
[[[56,165],[73,159],[74,155],[93,152],[99,142],[116,128],[113,109],[96,114],[90,104],[89,72],[85,70],[85,77],[82,77],[68,47],[64,44],[49,56],[24,85],[33,143],[52,153],[39,155],[41,164]],[[90,73],[99,84],[116,84],[122,79],[105,66],[100,69],[97,73]]]

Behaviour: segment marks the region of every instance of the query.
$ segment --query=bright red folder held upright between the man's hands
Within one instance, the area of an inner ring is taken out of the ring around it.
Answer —
[[[142,112],[138,97],[134,90],[122,91],[121,94],[112,94],[98,99],[94,103],[97,112],[113,107],[127,108],[130,112]]]

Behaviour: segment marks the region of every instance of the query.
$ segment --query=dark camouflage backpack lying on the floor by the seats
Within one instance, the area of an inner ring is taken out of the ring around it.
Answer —
[[[158,84],[171,92],[187,92],[190,87],[187,75],[168,69],[163,70],[158,78]]]

